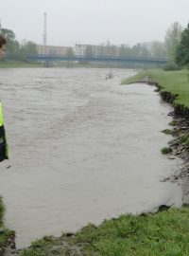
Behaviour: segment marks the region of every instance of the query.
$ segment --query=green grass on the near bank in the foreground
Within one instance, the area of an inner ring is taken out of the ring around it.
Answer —
[[[63,239],[63,238],[62,238]],[[52,241],[52,242],[51,242]],[[60,238],[43,239],[21,253],[22,256],[51,256],[52,247],[63,245]],[[89,224],[66,243],[83,247],[89,256],[188,256],[189,208],[170,209],[156,214],[121,215],[101,225]]]

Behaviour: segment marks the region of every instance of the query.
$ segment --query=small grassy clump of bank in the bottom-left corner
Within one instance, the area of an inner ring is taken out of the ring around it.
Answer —
[[[4,225],[5,205],[0,197],[0,256],[15,249],[15,232],[10,231]]]

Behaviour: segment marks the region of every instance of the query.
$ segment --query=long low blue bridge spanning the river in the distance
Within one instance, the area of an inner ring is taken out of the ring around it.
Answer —
[[[163,65],[168,59],[143,58],[143,57],[120,57],[120,56],[87,56],[87,55],[30,55],[26,57],[28,62],[81,62],[81,63],[116,63],[116,64],[157,64]]]

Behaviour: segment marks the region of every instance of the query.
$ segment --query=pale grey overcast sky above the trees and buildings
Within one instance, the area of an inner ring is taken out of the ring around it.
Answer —
[[[163,41],[176,21],[189,22],[189,0],[0,0],[2,27],[17,40],[43,44],[47,12],[47,45],[114,45]]]

